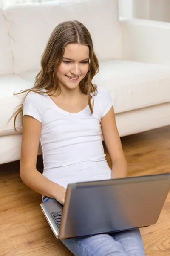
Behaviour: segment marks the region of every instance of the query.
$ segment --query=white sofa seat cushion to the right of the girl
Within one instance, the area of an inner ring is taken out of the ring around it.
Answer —
[[[116,113],[170,102],[169,66],[111,60],[99,67],[93,83],[111,92]]]

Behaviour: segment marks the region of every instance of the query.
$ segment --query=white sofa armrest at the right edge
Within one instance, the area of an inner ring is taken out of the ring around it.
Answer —
[[[170,23],[120,18],[122,58],[170,65]]]

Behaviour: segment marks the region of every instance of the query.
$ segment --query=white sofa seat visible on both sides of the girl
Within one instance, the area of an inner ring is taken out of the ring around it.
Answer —
[[[170,67],[158,64],[146,64],[135,61],[109,60],[99,63],[99,73],[93,83],[105,87],[111,92],[115,113],[123,113],[139,108],[170,102]],[[0,94],[1,114],[0,136],[16,134],[12,119],[14,108],[23,102],[24,93],[13,95],[14,91],[31,88],[37,71],[26,72],[20,76],[1,76],[3,84]],[[15,88],[15,89],[14,89]],[[17,126],[21,124],[18,120]],[[22,128],[18,129],[22,133]]]

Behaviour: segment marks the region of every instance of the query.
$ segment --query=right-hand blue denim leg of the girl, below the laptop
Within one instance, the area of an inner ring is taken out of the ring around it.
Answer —
[[[122,245],[128,256],[145,256],[144,245],[139,228],[110,233],[110,236]]]

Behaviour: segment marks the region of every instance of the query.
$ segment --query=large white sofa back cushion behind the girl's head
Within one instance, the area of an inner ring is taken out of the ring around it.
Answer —
[[[52,30],[62,21],[79,20],[91,33],[99,60],[121,58],[118,0],[58,0],[10,6],[8,23],[15,73],[40,69]]]

